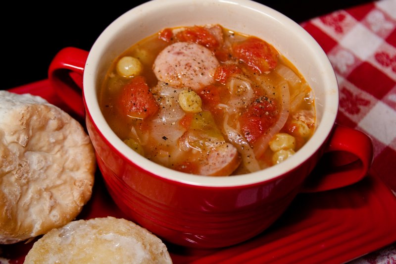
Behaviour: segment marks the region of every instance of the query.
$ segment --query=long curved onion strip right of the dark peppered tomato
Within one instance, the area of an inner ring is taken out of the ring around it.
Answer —
[[[265,150],[268,148],[268,143],[271,139],[279,133],[282,127],[285,125],[286,121],[289,117],[290,111],[290,92],[289,85],[286,82],[283,82],[278,85],[279,91],[281,91],[281,110],[279,114],[279,118],[276,123],[269,129],[267,133],[261,135],[257,141],[254,143],[253,149],[255,157],[261,157]]]

